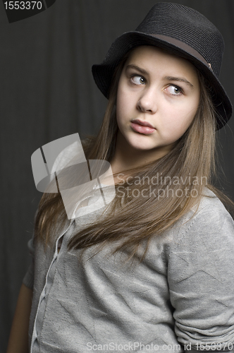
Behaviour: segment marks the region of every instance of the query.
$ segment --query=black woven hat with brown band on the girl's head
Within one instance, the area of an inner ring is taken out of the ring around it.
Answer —
[[[221,33],[206,17],[193,8],[174,3],[157,3],[136,30],[118,37],[101,64],[92,66],[94,80],[105,97],[109,97],[116,66],[131,49],[154,45],[168,49],[194,64],[203,74],[211,90],[216,108],[217,129],[232,114],[232,104],[218,80],[223,58]]]

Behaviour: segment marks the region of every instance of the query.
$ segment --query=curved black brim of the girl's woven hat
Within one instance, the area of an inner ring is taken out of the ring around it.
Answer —
[[[204,59],[198,58],[194,54],[191,54],[191,52],[167,40],[142,32],[133,31],[123,33],[123,35],[113,42],[104,61],[101,64],[92,66],[92,74],[95,83],[106,98],[109,97],[109,90],[116,66],[121,62],[125,54],[141,45],[153,45],[161,49],[168,49],[172,54],[176,54],[191,61],[202,73],[211,88],[211,98],[216,109],[217,130],[227,123],[233,112],[232,104],[212,69],[207,63],[204,64]]]

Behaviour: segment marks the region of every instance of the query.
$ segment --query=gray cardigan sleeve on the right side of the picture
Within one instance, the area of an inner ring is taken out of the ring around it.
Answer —
[[[221,201],[206,198],[174,236],[168,258],[175,332],[185,352],[234,352],[234,222]]]

